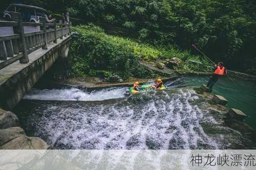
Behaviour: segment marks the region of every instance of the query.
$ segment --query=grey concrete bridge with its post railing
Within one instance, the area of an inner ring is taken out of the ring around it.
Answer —
[[[0,21],[0,107],[12,110],[57,58],[67,58],[71,23]],[[26,32],[24,28],[35,28]],[[11,34],[3,35],[4,30]],[[1,33],[2,32],[2,33]]]

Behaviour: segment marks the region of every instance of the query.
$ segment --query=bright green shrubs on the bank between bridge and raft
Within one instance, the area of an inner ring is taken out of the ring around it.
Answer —
[[[73,55],[73,72],[76,77],[111,77],[113,74],[123,79],[131,76],[153,77],[154,75],[137,63],[142,59],[155,61],[178,57],[183,61],[181,67],[193,70],[198,67],[190,64],[189,59],[208,64],[204,58],[192,56],[187,51],[181,52],[172,46],[155,47],[128,38],[107,35],[104,30],[93,25],[77,26],[72,30],[77,33],[70,52]]]

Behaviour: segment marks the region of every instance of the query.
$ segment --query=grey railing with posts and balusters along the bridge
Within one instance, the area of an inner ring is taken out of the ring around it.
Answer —
[[[0,69],[17,60],[28,63],[28,54],[41,47],[47,50],[48,43],[57,43],[58,38],[63,39],[70,34],[71,23],[46,23],[43,17],[43,22],[23,22],[21,13],[15,13],[12,17],[14,21],[0,21],[0,29],[12,27],[14,32],[0,36]],[[25,33],[24,27],[40,27],[41,31]]]

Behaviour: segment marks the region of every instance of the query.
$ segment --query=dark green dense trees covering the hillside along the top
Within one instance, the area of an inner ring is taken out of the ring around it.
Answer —
[[[255,0],[22,2],[59,13],[67,8],[73,17],[97,23],[114,32],[121,31],[123,35],[150,44],[175,44],[188,50],[194,43],[214,61],[224,61],[231,69],[256,69]]]

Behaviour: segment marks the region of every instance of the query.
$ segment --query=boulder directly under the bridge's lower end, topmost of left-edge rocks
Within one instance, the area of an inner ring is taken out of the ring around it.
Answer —
[[[0,109],[0,129],[18,126],[17,116],[10,112]]]

